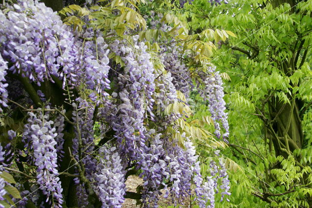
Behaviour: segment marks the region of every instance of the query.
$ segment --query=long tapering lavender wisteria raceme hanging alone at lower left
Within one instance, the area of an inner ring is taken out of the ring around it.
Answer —
[[[46,109],[50,109],[46,106]],[[40,109],[39,109],[40,110]],[[49,120],[49,113],[28,113],[28,123],[24,127],[23,138],[27,146],[33,149],[34,165],[37,166],[37,183],[42,193],[46,195],[46,202],[53,208],[61,208],[63,203],[62,187],[59,181],[58,155],[55,141],[57,136],[53,121]]]

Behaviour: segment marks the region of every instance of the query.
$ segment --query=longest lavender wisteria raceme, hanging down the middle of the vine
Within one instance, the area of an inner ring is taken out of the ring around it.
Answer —
[[[111,44],[113,52],[125,63],[124,72],[118,75],[121,104],[117,107],[117,119],[112,126],[121,144],[121,152],[126,153],[130,161],[140,159],[144,151],[144,119],[154,120],[154,67],[150,54],[146,52],[147,46],[137,39],[138,36],[133,37],[134,48],[119,41]]]

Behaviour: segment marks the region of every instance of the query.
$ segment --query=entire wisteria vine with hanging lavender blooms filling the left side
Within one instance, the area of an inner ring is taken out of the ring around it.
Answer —
[[[144,207],[157,207],[162,192],[181,204],[193,194],[192,185],[200,207],[214,207],[217,190],[221,200],[230,195],[222,160],[212,160],[204,178],[192,135],[178,125],[187,122],[188,99],[194,83],[201,83],[215,136],[227,141],[222,80],[215,67],[198,82],[186,62],[191,53],[184,56],[171,40],[160,40],[160,50],[152,51],[137,35],[138,27],[117,35],[117,26],[104,31],[82,17],[75,30],[37,0],[2,6],[0,110],[7,116],[7,141],[0,146],[0,171],[9,164],[18,167],[12,173],[23,178],[16,184],[17,205],[121,208],[131,194],[125,182],[132,172],[144,181],[132,193]],[[152,26],[158,28],[157,22]],[[173,29],[160,24],[162,32]],[[7,183],[0,177],[0,201],[6,200]]]

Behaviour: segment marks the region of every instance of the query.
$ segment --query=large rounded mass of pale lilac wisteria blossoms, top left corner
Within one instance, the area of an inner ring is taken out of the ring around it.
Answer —
[[[44,3],[26,0],[14,4],[7,14],[0,12],[0,22],[0,51],[5,60],[13,63],[9,68],[12,73],[40,85],[44,79],[52,80],[52,75],[65,79],[67,68],[75,70],[73,63],[70,66],[65,61],[77,59],[69,58],[73,53],[73,35]]]

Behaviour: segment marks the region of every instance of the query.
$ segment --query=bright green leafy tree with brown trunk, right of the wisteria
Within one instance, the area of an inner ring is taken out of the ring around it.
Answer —
[[[251,179],[243,183],[247,192],[273,207],[312,206],[311,134],[304,126],[311,121],[311,5],[233,0],[211,7],[198,0],[185,7],[193,31],[222,28],[237,36],[216,40],[213,58],[231,78],[228,154]],[[236,202],[248,207],[252,200]]]

